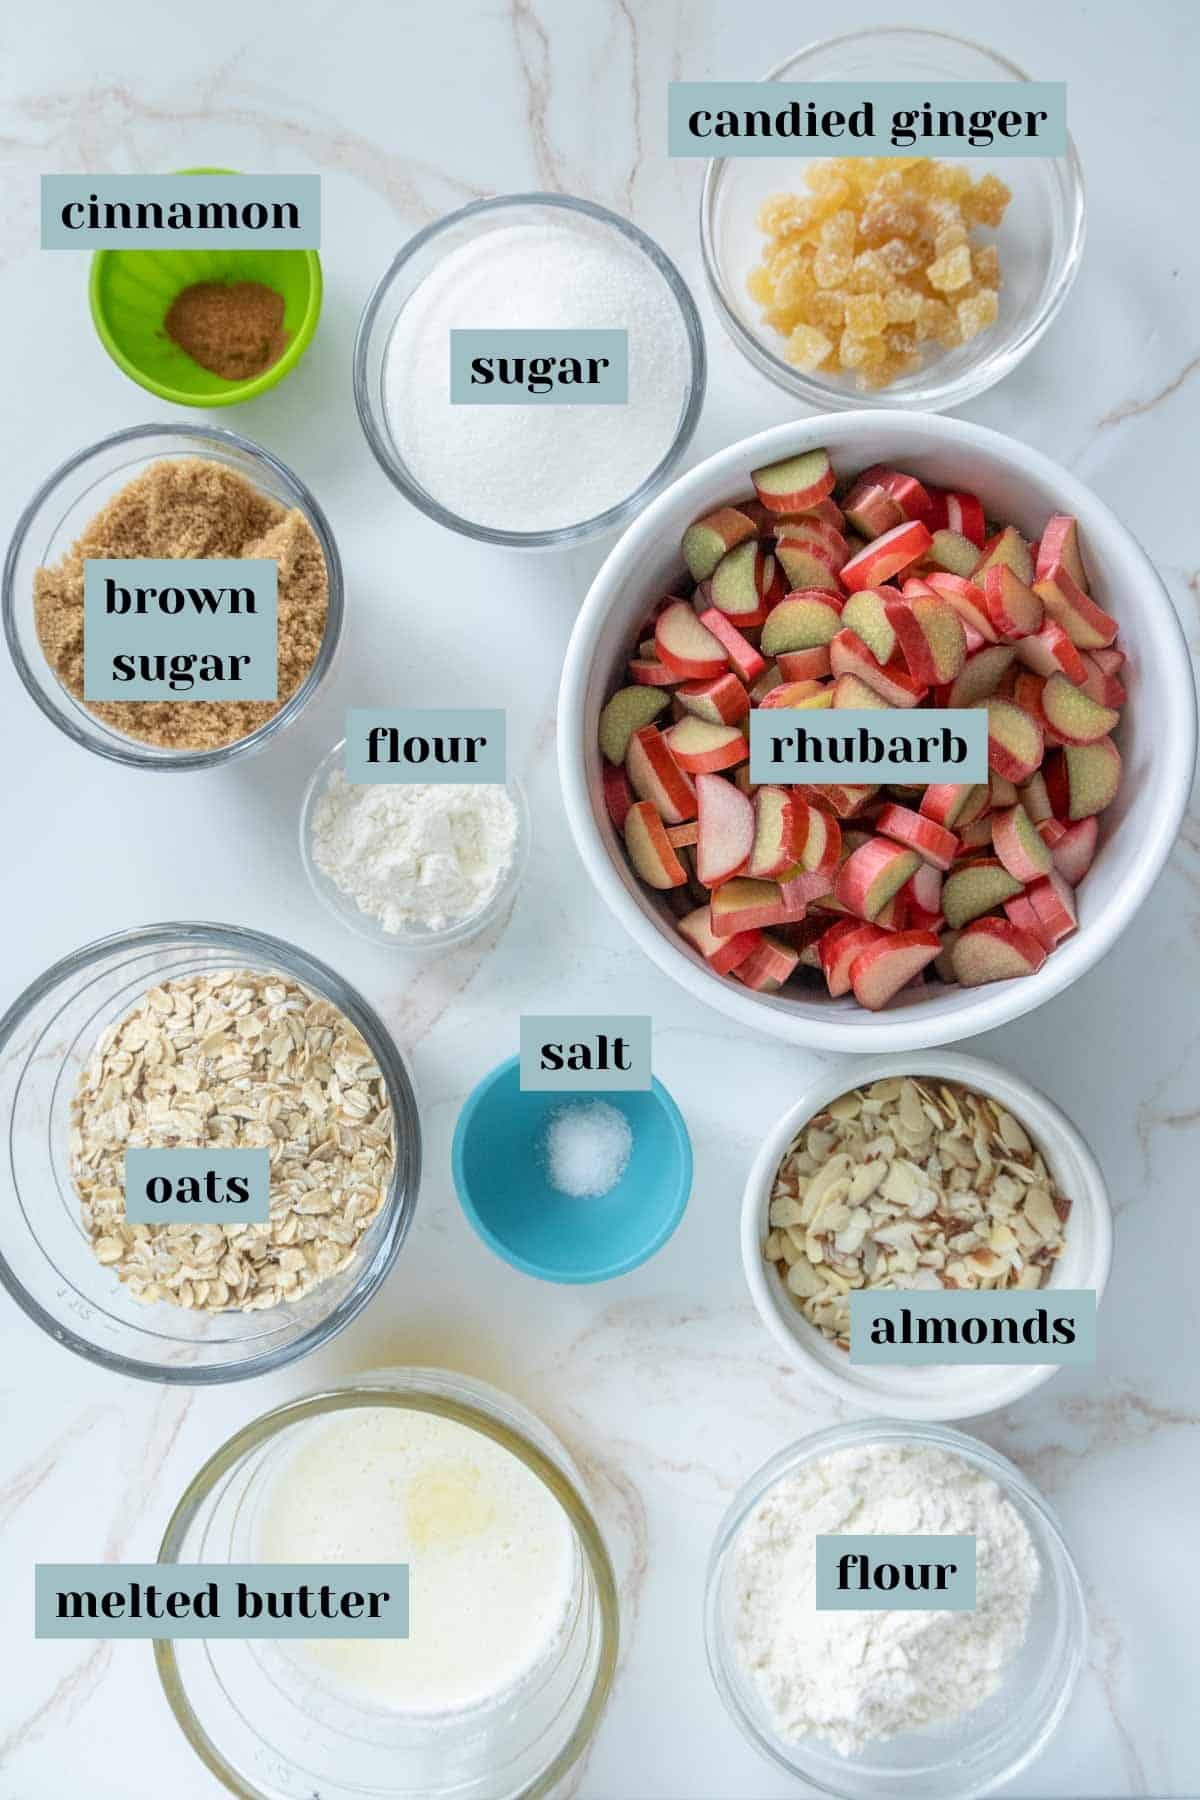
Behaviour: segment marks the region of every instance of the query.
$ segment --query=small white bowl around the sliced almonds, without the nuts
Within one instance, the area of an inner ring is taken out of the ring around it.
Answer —
[[[957,1049],[918,1057],[867,1057],[838,1062],[810,1082],[793,1107],[768,1132],[754,1157],[741,1201],[741,1265],[757,1314],[788,1359],[819,1388],[867,1413],[892,1418],[973,1418],[1013,1406],[1058,1373],[1056,1363],[851,1363],[844,1350],[810,1325],[788,1294],[774,1264],[763,1260],[770,1193],[775,1172],[799,1130],[851,1087],[867,1087],[892,1075],[961,1082],[999,1100],[1025,1127],[1054,1184],[1070,1202],[1063,1253],[1045,1294],[1056,1287],[1092,1287],[1099,1303],[1112,1265],[1112,1208],[1096,1157],[1065,1112],[1029,1082],[982,1057]]]

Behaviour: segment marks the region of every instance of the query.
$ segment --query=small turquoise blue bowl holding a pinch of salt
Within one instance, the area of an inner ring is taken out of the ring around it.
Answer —
[[[662,1082],[522,1093],[511,1057],[466,1100],[452,1168],[462,1211],[504,1262],[542,1282],[610,1282],[662,1249],[684,1217],[691,1139]]]

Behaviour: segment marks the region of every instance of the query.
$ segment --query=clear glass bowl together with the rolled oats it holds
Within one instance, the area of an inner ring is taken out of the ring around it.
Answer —
[[[0,1019],[0,1282],[124,1375],[200,1386],[308,1355],[367,1305],[412,1222],[405,1058],[333,968],[261,932],[148,925],[63,958]],[[228,1224],[201,1190],[194,1215],[131,1222],[137,1148],[264,1150],[266,1219]]]

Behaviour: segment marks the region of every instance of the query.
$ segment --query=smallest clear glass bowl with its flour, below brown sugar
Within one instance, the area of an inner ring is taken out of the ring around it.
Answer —
[[[344,925],[403,950],[466,943],[511,904],[529,859],[529,808],[507,783],[354,783],[345,743],[300,803],[300,860]]]

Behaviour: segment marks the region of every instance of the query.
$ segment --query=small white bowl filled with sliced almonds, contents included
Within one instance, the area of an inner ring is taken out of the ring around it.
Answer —
[[[968,1418],[1056,1364],[849,1359],[853,1289],[1094,1289],[1112,1260],[1096,1157],[1045,1094],[981,1057],[838,1060],[759,1150],[741,1208],[754,1305],[817,1386],[871,1413]]]

